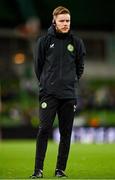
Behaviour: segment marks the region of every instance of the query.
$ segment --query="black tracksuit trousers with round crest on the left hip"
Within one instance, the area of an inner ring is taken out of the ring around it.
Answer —
[[[38,169],[43,170],[48,135],[52,129],[56,113],[59,119],[60,132],[56,169],[65,170],[70,149],[74,105],[75,99],[57,99],[51,95],[41,97],[39,107],[40,125],[36,143],[35,173],[38,172]]]

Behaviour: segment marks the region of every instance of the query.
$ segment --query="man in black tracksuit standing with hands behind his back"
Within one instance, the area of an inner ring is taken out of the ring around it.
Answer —
[[[43,163],[48,135],[56,113],[59,119],[60,143],[55,169],[56,177],[66,177],[72,125],[76,106],[76,82],[80,79],[85,55],[81,39],[70,33],[70,12],[59,6],[47,35],[39,38],[35,50],[35,72],[39,81],[40,125],[36,143],[35,170],[31,178],[43,177]]]

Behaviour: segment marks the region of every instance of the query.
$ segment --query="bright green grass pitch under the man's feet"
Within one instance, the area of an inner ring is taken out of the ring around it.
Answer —
[[[49,142],[44,179],[56,179],[58,144]],[[35,141],[0,142],[0,179],[28,179],[33,173]],[[115,144],[72,144],[66,168],[70,179],[115,179]]]

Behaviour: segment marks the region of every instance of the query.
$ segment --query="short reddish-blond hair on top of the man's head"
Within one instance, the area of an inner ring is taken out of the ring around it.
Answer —
[[[70,15],[70,11],[66,7],[58,6],[57,8],[55,8],[53,10],[53,17],[55,17],[59,14],[69,14]]]

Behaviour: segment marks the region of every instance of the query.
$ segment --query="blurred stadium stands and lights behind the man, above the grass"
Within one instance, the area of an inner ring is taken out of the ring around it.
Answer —
[[[87,56],[78,92],[74,142],[115,142],[114,1],[0,1],[0,139],[35,138],[38,83],[33,68],[35,40],[46,33],[52,11],[64,5]],[[55,120],[51,138],[59,140]]]

